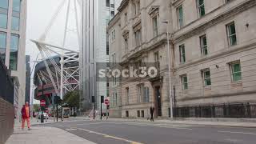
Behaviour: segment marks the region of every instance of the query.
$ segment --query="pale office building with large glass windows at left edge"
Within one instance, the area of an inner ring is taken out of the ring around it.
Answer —
[[[14,106],[25,102],[26,86],[26,0],[0,1],[0,57],[11,70],[14,82]]]

